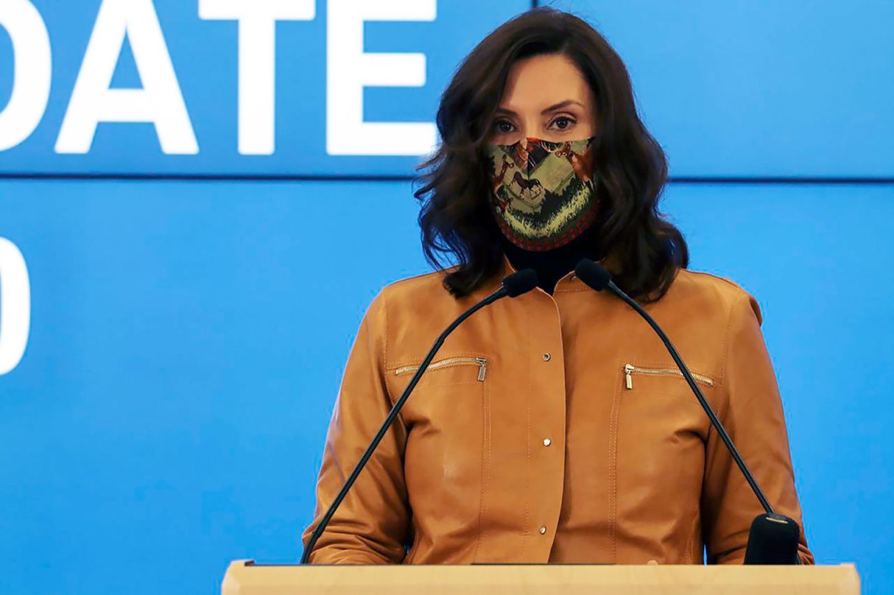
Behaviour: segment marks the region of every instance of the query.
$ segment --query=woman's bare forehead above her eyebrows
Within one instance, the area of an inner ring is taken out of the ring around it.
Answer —
[[[513,112],[541,110],[566,99],[592,104],[584,73],[563,54],[543,54],[512,64],[500,107]]]

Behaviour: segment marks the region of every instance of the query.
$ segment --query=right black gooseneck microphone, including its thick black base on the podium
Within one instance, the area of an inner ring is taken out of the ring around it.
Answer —
[[[643,306],[637,304],[636,300],[630,298],[617,285],[615,285],[614,281],[611,281],[611,274],[606,271],[603,266],[585,258],[578,262],[578,266],[575,267],[574,272],[578,275],[580,281],[584,281],[584,283],[591,289],[602,291],[603,289],[608,288],[611,293],[636,310],[637,314],[642,316],[646,323],[649,323],[649,326],[651,326],[655,333],[658,334],[658,337],[662,339],[664,347],[667,348],[674,363],[677,364],[680,373],[683,374],[683,378],[686,379],[689,388],[696,395],[699,405],[702,406],[704,413],[707,414],[708,419],[711,420],[711,425],[713,425],[717,435],[721,437],[723,444],[726,445],[733,460],[736,461],[739,471],[745,476],[745,480],[748,482],[748,485],[751,486],[751,490],[755,492],[755,496],[761,503],[761,507],[763,507],[765,512],[763,515],[758,515],[751,524],[751,530],[748,532],[745,564],[801,564],[801,558],[797,555],[797,543],[798,538],[800,537],[800,529],[798,528],[797,523],[794,519],[777,514],[773,511],[770,501],[763,494],[761,486],[758,485],[755,476],[748,469],[748,465],[745,464],[745,460],[739,454],[738,448],[736,448],[736,445],[730,438],[730,434],[726,431],[726,428],[723,427],[723,423],[721,423],[721,420],[714,413],[708,400],[704,398],[702,390],[698,388],[696,380],[692,377],[692,374],[689,373],[686,364],[679,356],[677,349],[674,348],[673,343],[671,343],[671,339],[668,339],[668,336],[664,334],[662,328],[654,321],[654,318],[645,311]]]

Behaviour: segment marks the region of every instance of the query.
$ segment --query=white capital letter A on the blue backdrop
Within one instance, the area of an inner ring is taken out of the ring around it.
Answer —
[[[125,37],[143,88],[109,88]],[[152,0],[104,0],[99,7],[56,153],[87,153],[99,122],[152,122],[164,153],[198,153]]]

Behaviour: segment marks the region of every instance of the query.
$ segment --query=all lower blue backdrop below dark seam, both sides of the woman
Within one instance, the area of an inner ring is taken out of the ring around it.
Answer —
[[[889,592],[894,188],[665,207],[763,306],[817,559]],[[296,561],[359,320],[426,271],[416,214],[392,182],[0,183],[33,296],[0,376],[0,591],[212,593],[233,558]]]

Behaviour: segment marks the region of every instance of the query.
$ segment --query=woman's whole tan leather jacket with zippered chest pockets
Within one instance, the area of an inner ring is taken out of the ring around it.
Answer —
[[[511,272],[505,261],[504,273]],[[307,544],[434,339],[468,298],[441,273],[369,306],[325,444]],[[680,271],[646,306],[776,510],[800,524],[755,299]],[[755,495],[648,325],[574,275],[473,314],[446,340],[315,552],[317,564],[741,563]],[[803,538],[801,557],[813,562]]]

